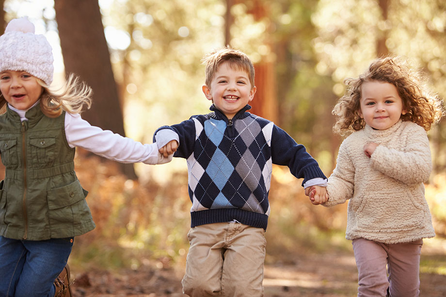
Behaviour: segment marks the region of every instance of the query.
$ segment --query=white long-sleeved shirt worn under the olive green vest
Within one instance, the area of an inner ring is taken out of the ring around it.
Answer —
[[[37,101],[35,104],[38,104]],[[34,105],[35,105],[34,104]],[[33,106],[34,106],[33,105]],[[25,114],[28,110],[18,110],[9,105],[21,121],[27,120]],[[131,138],[102,130],[90,125],[79,114],[65,113],[66,141],[71,148],[79,147],[95,153],[96,155],[121,163],[164,164],[172,160],[172,156],[164,158],[158,151],[172,139],[163,139],[160,143],[142,144]]]

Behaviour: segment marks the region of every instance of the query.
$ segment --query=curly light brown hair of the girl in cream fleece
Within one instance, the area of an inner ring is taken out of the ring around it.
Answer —
[[[382,57],[373,60],[358,78],[344,81],[347,90],[335,105],[332,114],[336,117],[333,131],[341,135],[359,131],[366,126],[360,116],[361,87],[364,82],[388,82],[393,84],[402,100],[405,115],[403,121],[412,121],[430,130],[433,123],[443,115],[442,100],[431,94],[426,78],[408,65],[402,57]]]

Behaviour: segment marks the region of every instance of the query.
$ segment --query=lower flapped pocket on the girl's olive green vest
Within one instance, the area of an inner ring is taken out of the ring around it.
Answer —
[[[47,191],[48,217],[51,231],[72,229],[91,220],[85,191],[76,180],[68,185]]]

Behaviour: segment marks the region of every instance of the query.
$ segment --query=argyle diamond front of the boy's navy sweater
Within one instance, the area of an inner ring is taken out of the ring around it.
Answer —
[[[191,212],[240,208],[268,215],[273,123],[239,119],[228,128],[235,129],[231,138],[223,120],[193,120],[196,149],[187,160]]]

